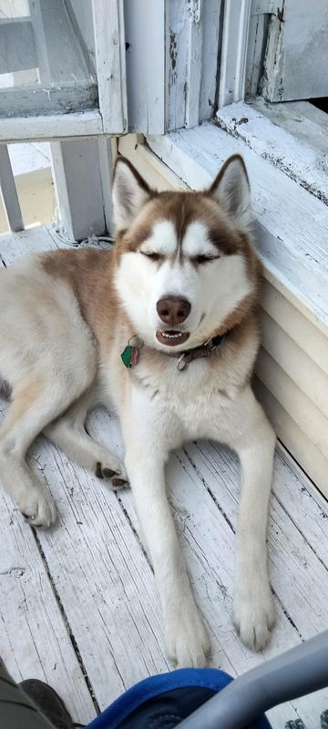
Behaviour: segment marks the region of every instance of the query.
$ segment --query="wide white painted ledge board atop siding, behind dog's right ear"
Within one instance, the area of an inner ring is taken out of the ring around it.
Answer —
[[[163,138],[150,136],[148,142],[193,189],[208,185],[227,157],[241,153],[251,179],[259,251],[292,283],[326,331],[327,207],[241,140],[207,122],[200,128],[171,132]]]

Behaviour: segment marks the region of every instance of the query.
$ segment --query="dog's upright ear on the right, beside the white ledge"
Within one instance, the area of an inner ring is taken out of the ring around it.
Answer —
[[[210,186],[210,195],[219,202],[231,222],[241,231],[251,225],[251,190],[245,163],[239,154],[227,159]]]

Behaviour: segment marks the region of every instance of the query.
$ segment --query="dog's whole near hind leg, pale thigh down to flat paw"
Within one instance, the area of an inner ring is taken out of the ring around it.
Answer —
[[[66,282],[41,258],[5,272],[0,289],[0,371],[12,402],[0,426],[0,479],[27,519],[49,526],[54,502],[26,466],[26,451],[46,426],[94,382],[97,347]]]

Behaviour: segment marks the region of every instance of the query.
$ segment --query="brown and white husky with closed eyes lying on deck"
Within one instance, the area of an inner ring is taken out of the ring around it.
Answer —
[[[30,524],[54,524],[54,501],[26,465],[43,431],[113,488],[129,482],[169,656],[202,666],[209,640],[164,477],[169,452],[185,441],[211,438],[240,458],[234,621],[255,650],[274,622],[266,528],[275,436],[250,385],[261,265],[247,172],[236,155],[209,190],[157,192],[118,158],[113,207],[111,252],[46,252],[0,272],[0,373],[11,389],[0,478]],[[99,403],[118,413],[124,464],[87,435]]]

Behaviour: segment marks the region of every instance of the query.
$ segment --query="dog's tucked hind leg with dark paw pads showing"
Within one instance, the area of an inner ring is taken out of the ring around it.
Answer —
[[[94,392],[90,389],[68,408],[64,416],[50,423],[44,433],[79,466],[93,471],[98,478],[108,479],[112,488],[124,488],[128,486],[128,477],[122,461],[87,434],[87,413],[96,404]]]

